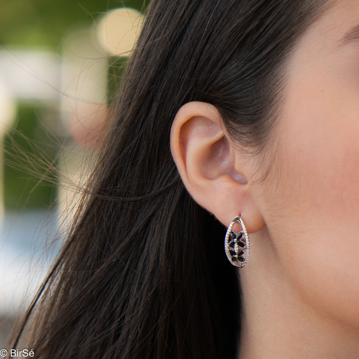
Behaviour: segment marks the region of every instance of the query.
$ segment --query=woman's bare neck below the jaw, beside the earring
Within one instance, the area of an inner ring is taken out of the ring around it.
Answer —
[[[300,295],[281,268],[266,227],[250,238],[251,258],[239,269],[243,304],[239,359],[358,358],[359,328],[328,317]],[[306,253],[298,255],[305,258]]]

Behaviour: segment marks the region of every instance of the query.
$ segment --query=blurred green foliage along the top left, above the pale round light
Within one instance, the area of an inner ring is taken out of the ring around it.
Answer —
[[[123,6],[143,10],[144,0],[0,0],[0,45],[48,47],[57,51],[67,30],[89,25]]]

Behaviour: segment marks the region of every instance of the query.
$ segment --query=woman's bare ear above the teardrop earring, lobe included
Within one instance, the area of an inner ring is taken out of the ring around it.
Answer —
[[[230,146],[218,109],[188,102],[171,128],[171,152],[187,191],[225,226],[241,214],[248,233],[265,223],[247,180],[250,168],[235,168],[239,154]]]

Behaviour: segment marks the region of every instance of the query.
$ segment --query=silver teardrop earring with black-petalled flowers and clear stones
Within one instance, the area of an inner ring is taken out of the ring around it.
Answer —
[[[238,222],[242,226],[242,231],[237,234],[232,231],[234,224]],[[234,218],[227,229],[224,238],[224,250],[228,260],[236,267],[244,267],[249,258],[249,238],[246,227],[242,221],[241,216]],[[246,257],[243,254],[246,252]]]

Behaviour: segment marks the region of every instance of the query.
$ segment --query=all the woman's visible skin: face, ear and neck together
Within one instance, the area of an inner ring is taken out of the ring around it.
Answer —
[[[336,1],[291,54],[265,180],[264,157],[243,154],[214,106],[187,103],[174,119],[188,191],[250,233],[241,359],[359,356],[359,39],[341,42],[358,24],[359,1]]]

